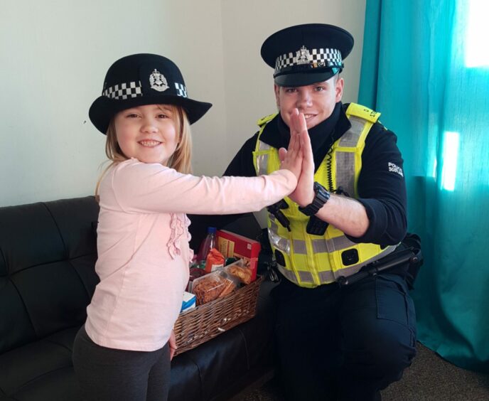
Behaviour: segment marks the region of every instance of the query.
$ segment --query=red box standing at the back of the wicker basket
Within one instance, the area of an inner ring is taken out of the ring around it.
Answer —
[[[224,257],[236,257],[249,261],[252,282],[257,279],[258,255],[262,246],[258,241],[227,230],[217,230],[217,250]]]

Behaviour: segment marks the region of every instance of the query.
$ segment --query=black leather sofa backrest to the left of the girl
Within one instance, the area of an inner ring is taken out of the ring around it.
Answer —
[[[97,216],[92,196],[0,208],[0,353],[85,321]]]

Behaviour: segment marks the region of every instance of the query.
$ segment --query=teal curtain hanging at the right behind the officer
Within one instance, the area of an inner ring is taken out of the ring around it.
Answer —
[[[487,0],[367,0],[359,93],[404,157],[409,231],[425,257],[412,292],[419,341],[485,373],[488,15]]]

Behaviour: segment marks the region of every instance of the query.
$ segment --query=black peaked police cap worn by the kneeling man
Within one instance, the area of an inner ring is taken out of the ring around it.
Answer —
[[[353,48],[353,36],[338,26],[306,23],[269,36],[262,58],[274,68],[279,86],[303,86],[328,80],[343,70],[343,60]]]

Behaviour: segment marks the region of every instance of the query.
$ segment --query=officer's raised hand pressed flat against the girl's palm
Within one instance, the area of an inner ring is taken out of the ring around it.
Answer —
[[[291,114],[291,138],[299,137],[301,139],[302,169],[297,187],[289,195],[292,201],[299,206],[306,206],[314,199],[314,158],[311,147],[311,139],[307,131],[306,119],[303,113],[294,109]]]

